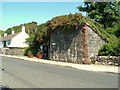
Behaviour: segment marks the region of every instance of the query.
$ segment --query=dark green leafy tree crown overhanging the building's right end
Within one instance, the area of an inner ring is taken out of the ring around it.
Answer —
[[[118,2],[85,2],[84,7],[77,8],[107,28],[119,22],[119,5]]]

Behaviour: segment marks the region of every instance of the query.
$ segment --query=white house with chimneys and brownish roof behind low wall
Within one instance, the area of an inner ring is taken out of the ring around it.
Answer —
[[[4,34],[4,37],[0,38],[0,47],[8,47],[8,48],[23,48],[28,47],[26,43],[26,39],[29,35],[25,32],[25,26],[22,25],[22,31],[18,33],[14,33],[12,31],[11,35]]]

